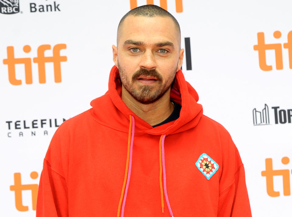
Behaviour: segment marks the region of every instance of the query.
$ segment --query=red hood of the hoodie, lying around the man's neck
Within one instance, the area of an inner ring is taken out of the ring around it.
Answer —
[[[179,118],[158,127],[152,127],[132,112],[121,99],[122,84],[119,70],[113,66],[109,74],[109,90],[102,97],[91,101],[91,113],[101,124],[128,132],[130,115],[135,118],[135,133],[152,135],[170,135],[196,127],[202,114],[202,105],[197,103],[199,96],[196,90],[185,80],[182,71],[176,73],[170,99],[179,103],[182,108]],[[105,109],[106,108],[106,109]],[[100,112],[102,111],[102,112]]]

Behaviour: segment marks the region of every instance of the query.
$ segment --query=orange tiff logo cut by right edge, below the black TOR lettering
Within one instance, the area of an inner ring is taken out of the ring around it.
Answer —
[[[282,164],[288,164],[290,159],[288,157],[282,158]],[[272,158],[266,158],[266,171],[262,171],[262,176],[266,176],[267,193],[271,197],[279,197],[280,192],[274,191],[275,175],[281,175],[283,178],[283,194],[284,196],[290,195],[290,170],[273,170]]]

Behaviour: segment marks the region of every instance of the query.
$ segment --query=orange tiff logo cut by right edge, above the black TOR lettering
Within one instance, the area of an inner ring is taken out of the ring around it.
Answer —
[[[275,39],[279,39],[282,36],[282,33],[280,31],[275,31],[273,36]],[[284,43],[283,47],[288,49],[289,66],[290,69],[292,69],[292,31],[288,33],[287,38],[287,43]],[[275,51],[276,69],[283,69],[282,44],[266,44],[264,33],[258,32],[258,44],[253,46],[253,49],[259,52],[259,67],[261,70],[270,71],[273,69],[272,66],[267,65],[266,63],[266,50]]]

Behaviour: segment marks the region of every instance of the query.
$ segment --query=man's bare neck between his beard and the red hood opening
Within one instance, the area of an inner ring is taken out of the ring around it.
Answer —
[[[151,126],[164,121],[174,109],[170,101],[170,87],[160,99],[153,103],[143,104],[132,97],[124,86],[122,86],[122,100],[131,111]]]

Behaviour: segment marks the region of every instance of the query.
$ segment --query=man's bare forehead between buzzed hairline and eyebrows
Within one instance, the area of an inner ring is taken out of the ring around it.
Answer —
[[[143,41],[154,44],[159,41],[170,41],[179,46],[179,33],[173,20],[169,17],[128,16],[119,30],[119,45],[126,40]]]

